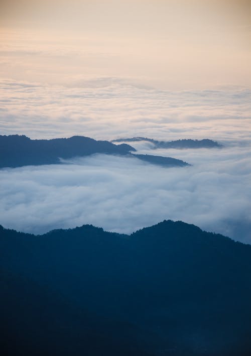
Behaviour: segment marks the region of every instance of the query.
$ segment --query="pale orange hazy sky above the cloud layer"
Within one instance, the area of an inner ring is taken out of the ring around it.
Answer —
[[[74,85],[250,87],[251,6],[233,0],[1,2],[0,76]]]

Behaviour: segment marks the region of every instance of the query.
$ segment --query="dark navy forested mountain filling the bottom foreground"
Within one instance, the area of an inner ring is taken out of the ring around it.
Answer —
[[[0,229],[1,354],[250,355],[251,246],[181,221]]]

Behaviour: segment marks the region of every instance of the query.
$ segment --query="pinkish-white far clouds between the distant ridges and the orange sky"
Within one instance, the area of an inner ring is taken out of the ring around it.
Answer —
[[[220,143],[250,137],[249,89],[171,92],[144,88],[130,78],[79,77],[72,87],[2,80],[0,95],[2,134],[209,138]]]

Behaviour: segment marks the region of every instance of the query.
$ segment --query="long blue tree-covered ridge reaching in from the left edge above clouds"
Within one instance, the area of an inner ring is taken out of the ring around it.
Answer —
[[[24,135],[0,136],[0,168],[58,164],[61,163],[60,158],[70,159],[98,153],[138,158],[164,167],[188,165],[175,158],[132,153],[135,151],[134,147],[127,144],[114,145],[83,136],[52,140],[31,140]]]

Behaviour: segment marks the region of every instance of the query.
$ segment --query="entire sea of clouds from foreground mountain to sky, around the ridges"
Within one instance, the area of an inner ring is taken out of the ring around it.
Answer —
[[[67,86],[2,80],[1,134],[33,139],[217,140],[223,149],[139,153],[182,159],[162,168],[136,158],[94,155],[61,165],[0,170],[0,223],[43,233],[92,223],[130,233],[163,219],[183,220],[251,243],[251,91],[176,91],[129,79],[79,78]]]

